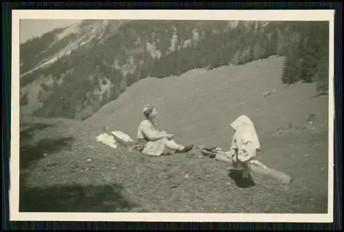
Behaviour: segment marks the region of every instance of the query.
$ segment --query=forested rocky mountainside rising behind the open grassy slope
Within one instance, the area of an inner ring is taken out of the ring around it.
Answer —
[[[327,87],[326,22],[85,20],[21,45],[21,114],[83,120],[147,76],[275,54],[283,83]]]

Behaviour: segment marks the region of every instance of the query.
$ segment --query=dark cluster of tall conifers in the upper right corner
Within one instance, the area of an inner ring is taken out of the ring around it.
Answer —
[[[319,92],[328,90],[329,25],[321,22],[298,22],[293,25],[292,48],[285,54],[287,61],[283,83],[316,82]]]

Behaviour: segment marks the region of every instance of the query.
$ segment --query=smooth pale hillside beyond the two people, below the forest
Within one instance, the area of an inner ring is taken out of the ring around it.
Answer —
[[[229,146],[229,124],[242,114],[252,118],[259,134],[277,133],[290,122],[303,124],[310,114],[327,122],[327,97],[312,98],[314,84],[281,85],[283,61],[281,56],[272,56],[246,65],[191,70],[158,80],[145,78],[86,121],[135,137],[142,106],[152,104],[158,109],[158,124],[181,142],[219,147]]]

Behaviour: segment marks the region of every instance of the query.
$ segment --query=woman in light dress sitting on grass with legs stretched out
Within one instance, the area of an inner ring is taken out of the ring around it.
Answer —
[[[142,120],[138,127],[138,138],[136,149],[149,156],[161,156],[171,149],[176,153],[186,153],[193,149],[193,145],[179,145],[173,140],[173,134],[167,134],[165,131],[159,131],[154,118],[158,112],[155,107],[145,105],[143,109],[145,120]]]

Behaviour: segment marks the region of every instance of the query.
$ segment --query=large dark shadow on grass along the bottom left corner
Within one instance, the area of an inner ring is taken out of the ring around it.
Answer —
[[[122,196],[122,186],[56,185],[47,188],[20,187],[21,212],[125,212],[135,204]]]

